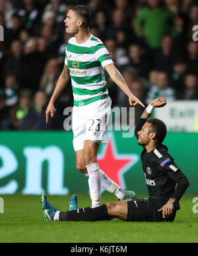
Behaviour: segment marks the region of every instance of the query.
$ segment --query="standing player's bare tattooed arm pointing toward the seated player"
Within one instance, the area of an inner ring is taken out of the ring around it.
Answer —
[[[145,107],[143,103],[137,97],[131,93],[131,90],[129,89],[128,85],[125,82],[125,79],[121,75],[121,73],[117,70],[114,64],[106,65],[105,66],[106,71],[108,71],[110,77],[120,87],[120,89],[129,97],[129,104],[130,106],[135,107],[137,104],[141,105],[142,107]]]

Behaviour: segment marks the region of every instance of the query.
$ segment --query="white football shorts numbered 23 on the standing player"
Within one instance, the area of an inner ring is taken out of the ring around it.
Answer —
[[[73,107],[72,130],[75,151],[84,149],[84,141],[106,144],[106,126],[110,119],[110,97],[81,107]]]

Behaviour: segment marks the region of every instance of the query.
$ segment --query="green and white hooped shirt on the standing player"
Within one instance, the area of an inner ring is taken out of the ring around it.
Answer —
[[[95,36],[83,44],[71,38],[65,50],[65,65],[69,67],[73,89],[74,105],[81,107],[108,96],[104,67],[114,64],[102,43]]]

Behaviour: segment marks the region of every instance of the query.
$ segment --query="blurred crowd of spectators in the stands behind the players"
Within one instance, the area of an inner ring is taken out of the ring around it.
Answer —
[[[90,33],[108,48],[134,95],[147,104],[198,100],[198,1],[193,0],[0,0],[0,128],[63,130],[63,110],[73,106],[71,85],[45,123],[48,99],[63,69],[71,35],[63,23],[71,4],[92,7]],[[112,107],[127,96],[109,79]],[[141,107],[135,108],[139,116]]]

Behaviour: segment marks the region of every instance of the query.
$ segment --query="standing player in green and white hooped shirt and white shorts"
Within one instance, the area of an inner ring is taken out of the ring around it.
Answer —
[[[49,101],[46,122],[49,116],[54,116],[55,100],[71,78],[74,97],[73,146],[77,169],[88,176],[92,208],[95,208],[100,206],[101,187],[116,194],[120,200],[135,197],[133,191],[125,191],[109,179],[97,163],[100,143],[106,144],[106,126],[112,104],[104,77],[105,69],[129,97],[130,106],[145,106],[131,93],[102,41],[90,34],[91,16],[91,9],[84,5],[75,5],[67,13],[65,32],[74,36],[66,46],[65,65]]]

